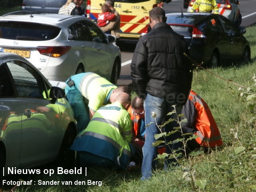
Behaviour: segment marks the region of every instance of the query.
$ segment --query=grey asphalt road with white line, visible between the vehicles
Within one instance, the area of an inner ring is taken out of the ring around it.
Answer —
[[[240,13],[242,15],[241,26],[247,27],[252,24],[256,24],[256,0],[240,0]],[[183,8],[183,0],[172,0],[172,2],[164,3],[164,10],[166,13],[171,12],[186,12]],[[130,62],[135,49],[137,41],[122,41],[120,44],[120,50],[122,54],[122,69],[121,76],[118,80],[118,84],[131,84],[130,78]]]

